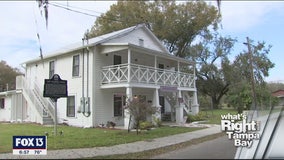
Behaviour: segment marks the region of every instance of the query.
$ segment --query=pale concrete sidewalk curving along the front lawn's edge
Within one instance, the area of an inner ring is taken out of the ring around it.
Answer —
[[[151,141],[138,141],[127,144],[120,144],[110,147],[94,147],[80,149],[62,149],[62,150],[47,150],[47,155],[13,155],[12,153],[0,154],[0,159],[76,159],[95,156],[126,154],[133,152],[141,152],[145,150],[156,149],[173,144],[186,142],[195,138],[220,133],[220,125],[209,125],[209,128],[197,130],[194,132],[182,133],[168,137],[156,138]],[[190,126],[188,126],[190,127]]]

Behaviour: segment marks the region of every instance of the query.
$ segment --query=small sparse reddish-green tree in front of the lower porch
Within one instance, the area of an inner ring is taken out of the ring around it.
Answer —
[[[146,120],[147,114],[154,114],[155,109],[147,103],[141,97],[134,97],[132,100],[128,100],[126,108],[130,114],[130,119],[134,121],[134,126],[136,128],[136,133],[140,128],[140,122]]]

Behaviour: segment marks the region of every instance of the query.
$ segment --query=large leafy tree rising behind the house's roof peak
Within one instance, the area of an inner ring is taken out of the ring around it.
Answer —
[[[139,7],[137,7],[139,6]],[[91,29],[90,37],[146,23],[165,44],[169,52],[187,56],[186,48],[213,25],[217,30],[218,10],[202,1],[118,1],[102,14]]]

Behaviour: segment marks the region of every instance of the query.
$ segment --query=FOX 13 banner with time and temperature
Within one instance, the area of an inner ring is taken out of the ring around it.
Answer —
[[[13,155],[46,154],[46,136],[13,136]]]

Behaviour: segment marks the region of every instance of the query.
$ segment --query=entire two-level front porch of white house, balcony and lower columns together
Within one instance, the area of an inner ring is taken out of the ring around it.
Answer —
[[[170,113],[171,121],[178,124],[187,114],[198,113],[194,62],[131,44],[104,44],[100,51],[102,92],[119,90],[118,95],[130,99],[147,93],[147,102],[158,111],[152,117],[161,119],[162,114]],[[108,94],[104,95],[102,98]],[[127,128],[130,116],[126,110],[122,112],[120,124]]]

